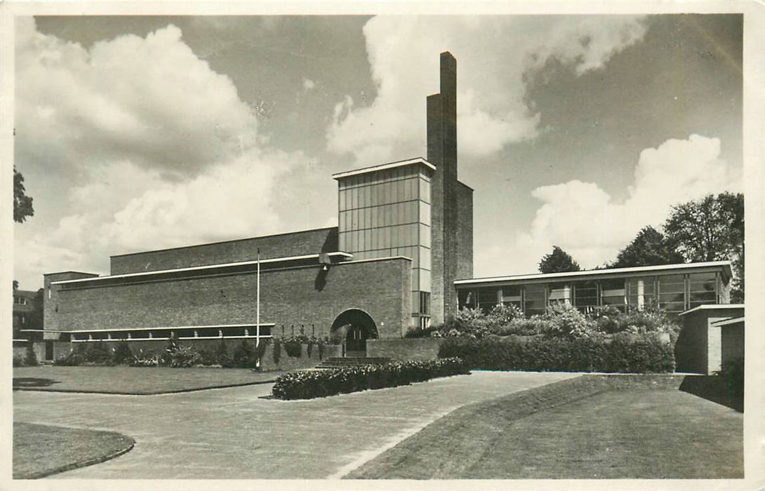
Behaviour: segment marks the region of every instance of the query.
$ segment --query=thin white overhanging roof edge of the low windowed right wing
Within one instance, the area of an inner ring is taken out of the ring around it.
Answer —
[[[496,276],[490,278],[456,280],[454,281],[454,285],[456,287],[514,285],[519,283],[543,283],[548,281],[562,280],[592,280],[598,278],[612,278],[614,276],[643,276],[655,275],[657,273],[671,275],[673,272],[686,273],[707,271],[721,271],[727,278],[731,278],[731,262],[690,262],[679,265],[638,266],[635,268],[593,269],[589,271],[565,273],[535,273],[533,275]]]

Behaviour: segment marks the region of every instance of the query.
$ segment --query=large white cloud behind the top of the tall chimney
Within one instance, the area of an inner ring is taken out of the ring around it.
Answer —
[[[552,58],[578,74],[597,70],[645,30],[627,15],[373,18],[363,32],[377,96],[370,106],[350,96],[337,102],[327,148],[359,163],[422,154],[425,96],[438,93],[438,54],[450,50],[458,148],[468,157],[491,154],[539,132],[540,115],[524,100],[525,73]]]

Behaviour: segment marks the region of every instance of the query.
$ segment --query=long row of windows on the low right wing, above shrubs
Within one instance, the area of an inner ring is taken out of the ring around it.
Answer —
[[[608,305],[620,311],[630,307],[640,310],[653,305],[678,313],[717,303],[719,291],[715,273],[693,273],[478,288],[460,291],[458,298],[461,307],[481,307],[488,311],[496,304],[516,305],[526,315],[542,314],[547,305],[555,302],[574,304],[581,311]]]

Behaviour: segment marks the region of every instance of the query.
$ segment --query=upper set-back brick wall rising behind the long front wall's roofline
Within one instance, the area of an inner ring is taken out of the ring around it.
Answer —
[[[125,273],[161,269],[255,261],[258,248],[260,248],[261,259],[336,252],[337,227],[190,245],[175,249],[137,252],[135,254],[112,255],[111,274],[124,275]]]

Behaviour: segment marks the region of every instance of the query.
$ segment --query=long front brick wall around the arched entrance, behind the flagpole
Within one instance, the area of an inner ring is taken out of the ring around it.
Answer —
[[[310,329],[314,324],[317,336],[328,336],[340,313],[358,308],[373,318],[379,337],[401,337],[411,312],[410,269],[409,259],[390,258],[334,265],[326,273],[318,265],[263,272],[260,320],[277,324],[274,333],[282,326],[303,324]],[[254,272],[90,288],[51,288],[48,279],[47,329],[256,322]]]

